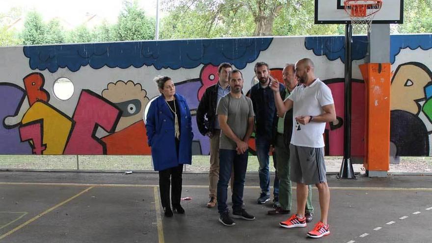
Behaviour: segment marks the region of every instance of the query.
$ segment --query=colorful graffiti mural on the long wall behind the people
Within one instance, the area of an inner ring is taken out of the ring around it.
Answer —
[[[393,156],[431,155],[431,35],[391,36],[391,144]],[[367,37],[354,36],[353,59],[363,63]],[[0,60],[0,154],[149,155],[145,109],[160,95],[153,78],[167,75],[191,110],[192,153],[208,155],[195,112],[205,89],[218,81],[217,66],[229,62],[243,72],[247,93],[256,82],[253,66],[269,63],[282,80],[286,63],[304,57],[331,89],[337,120],[326,125],[325,154],[343,154],[343,36],[263,37],[136,41],[7,47],[14,62]],[[4,53],[6,55],[6,53]],[[59,100],[54,81],[68,78],[74,93]],[[351,154],[364,154],[365,85],[354,65]],[[253,153],[255,142],[249,141]]]

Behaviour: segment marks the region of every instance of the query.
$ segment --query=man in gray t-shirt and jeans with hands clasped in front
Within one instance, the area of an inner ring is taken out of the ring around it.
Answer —
[[[254,220],[243,208],[244,177],[246,175],[248,145],[253,131],[252,101],[242,94],[243,75],[239,70],[229,73],[230,93],[222,97],[216,108],[220,126],[219,181],[217,182],[217,210],[219,222],[235,225],[229,215],[227,200],[228,181],[234,168],[233,217]]]

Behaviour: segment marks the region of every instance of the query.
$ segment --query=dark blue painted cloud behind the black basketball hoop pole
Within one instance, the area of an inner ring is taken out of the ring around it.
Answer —
[[[352,38],[352,59],[363,59],[368,50],[367,36],[353,36]],[[304,46],[307,50],[312,50],[315,55],[325,55],[330,61],[340,58],[342,62],[345,62],[345,36],[305,37]]]

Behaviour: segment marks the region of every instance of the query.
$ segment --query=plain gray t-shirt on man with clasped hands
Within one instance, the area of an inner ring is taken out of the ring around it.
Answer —
[[[217,104],[216,115],[227,115],[227,124],[238,138],[246,135],[249,117],[253,117],[252,101],[244,96],[234,98],[231,94],[222,97]],[[220,131],[219,148],[236,150],[237,144]]]

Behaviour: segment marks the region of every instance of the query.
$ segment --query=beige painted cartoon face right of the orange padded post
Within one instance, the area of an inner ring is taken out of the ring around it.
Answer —
[[[407,62],[399,65],[391,82],[391,110],[420,112],[419,100],[424,100],[424,87],[431,82],[431,71],[422,63]]]

